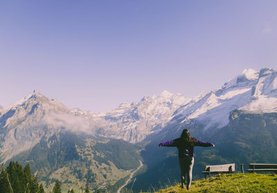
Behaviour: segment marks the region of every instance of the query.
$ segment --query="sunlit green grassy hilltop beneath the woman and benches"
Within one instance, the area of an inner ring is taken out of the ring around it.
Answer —
[[[157,192],[188,192],[181,184]],[[222,174],[193,181],[189,192],[277,192],[277,174]]]

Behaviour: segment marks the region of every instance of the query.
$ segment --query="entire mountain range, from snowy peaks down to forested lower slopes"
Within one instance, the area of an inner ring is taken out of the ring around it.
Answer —
[[[58,180],[64,190],[116,190],[141,160],[133,187],[139,191],[179,179],[176,149],[157,144],[179,137],[183,128],[216,144],[197,149],[195,174],[206,163],[274,161],[276,115],[277,72],[268,68],[244,69],[193,99],[164,91],[101,113],[70,109],[34,91],[0,107],[0,161],[29,162],[49,188]]]

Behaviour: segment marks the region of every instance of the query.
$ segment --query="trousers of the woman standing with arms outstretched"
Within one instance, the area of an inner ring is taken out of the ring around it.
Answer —
[[[190,189],[190,184],[193,179],[193,163],[195,162],[193,157],[179,158],[179,166],[181,170],[181,187],[185,187],[185,179],[187,181],[186,188]]]

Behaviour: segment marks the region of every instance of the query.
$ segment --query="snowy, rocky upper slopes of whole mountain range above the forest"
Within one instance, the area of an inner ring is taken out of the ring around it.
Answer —
[[[160,131],[201,124],[203,131],[216,131],[229,123],[232,110],[277,112],[277,72],[245,69],[217,90],[188,99],[164,91],[143,97],[138,103],[122,103],[108,112],[93,113],[66,108],[38,92],[1,108],[0,158],[8,160],[31,149],[42,138],[73,131],[95,137],[141,142]]]

